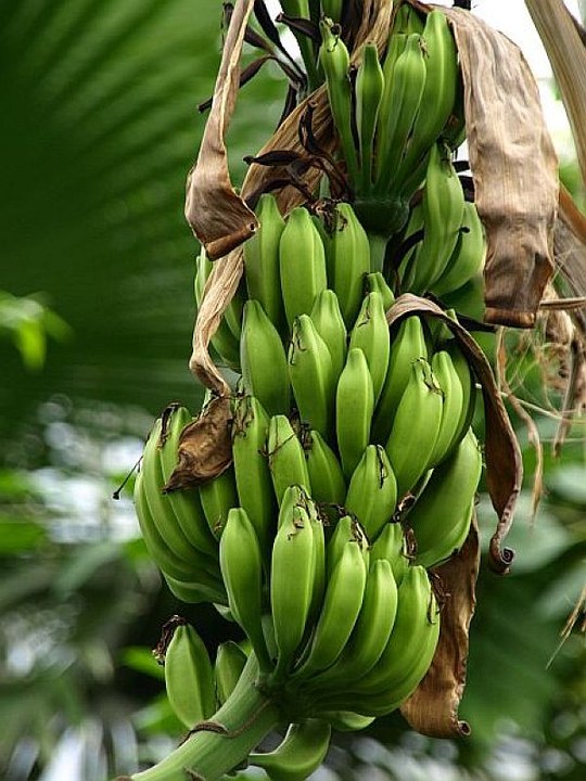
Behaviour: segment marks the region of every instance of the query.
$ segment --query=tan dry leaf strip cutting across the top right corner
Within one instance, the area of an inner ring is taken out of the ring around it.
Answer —
[[[586,183],[586,46],[563,0],[525,0],[544,42],[576,145]]]

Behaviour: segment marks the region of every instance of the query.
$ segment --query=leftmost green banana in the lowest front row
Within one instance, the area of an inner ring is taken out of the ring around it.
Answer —
[[[228,607],[244,629],[260,668],[268,667],[263,633],[263,551],[254,525],[242,508],[232,508],[220,543],[220,567]]]

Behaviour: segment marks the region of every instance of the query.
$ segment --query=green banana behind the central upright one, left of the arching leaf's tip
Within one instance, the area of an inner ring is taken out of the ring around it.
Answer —
[[[365,354],[377,404],[386,377],[390,353],[388,323],[382,295],[377,291],[365,297],[351,331],[348,349],[354,347],[359,347]]]

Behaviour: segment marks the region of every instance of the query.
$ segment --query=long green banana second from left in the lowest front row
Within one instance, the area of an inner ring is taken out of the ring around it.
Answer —
[[[314,597],[314,530],[307,511],[295,504],[280,520],[272,546],[270,602],[278,649],[275,676],[286,675],[306,633]]]

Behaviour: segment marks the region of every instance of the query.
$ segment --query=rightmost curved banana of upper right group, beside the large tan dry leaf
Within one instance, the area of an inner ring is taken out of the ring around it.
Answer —
[[[454,252],[431,290],[436,296],[451,293],[475,277],[484,265],[486,239],[476,205],[464,203],[463,219]]]

